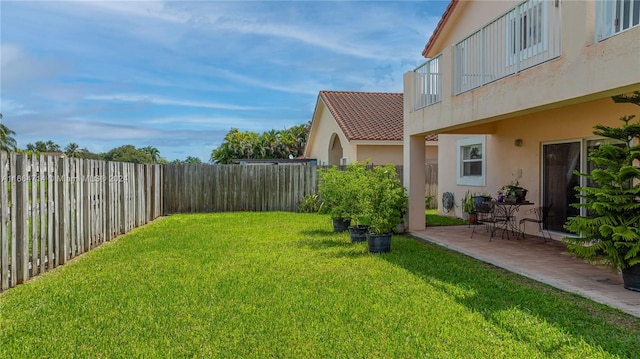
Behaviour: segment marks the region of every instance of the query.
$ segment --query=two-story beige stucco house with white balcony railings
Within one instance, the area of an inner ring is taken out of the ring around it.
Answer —
[[[589,170],[602,141],[593,126],[640,115],[611,100],[640,90],[640,0],[452,0],[422,55],[404,75],[409,228],[425,227],[424,136],[437,133],[440,196],[495,196],[517,179],[529,201],[553,205],[547,229],[565,236],[579,214],[574,170]]]

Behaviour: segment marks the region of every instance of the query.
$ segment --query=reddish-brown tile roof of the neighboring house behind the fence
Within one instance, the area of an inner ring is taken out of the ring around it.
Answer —
[[[349,141],[402,141],[401,93],[320,91]]]

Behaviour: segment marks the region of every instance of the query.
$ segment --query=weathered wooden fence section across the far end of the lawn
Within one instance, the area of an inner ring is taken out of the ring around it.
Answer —
[[[164,210],[295,212],[317,182],[316,166],[165,165]]]

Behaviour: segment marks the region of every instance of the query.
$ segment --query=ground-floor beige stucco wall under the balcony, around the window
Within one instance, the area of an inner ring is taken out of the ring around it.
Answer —
[[[529,190],[527,199],[540,204],[542,144],[594,138],[594,124],[619,126],[619,118],[628,114],[636,114],[640,118],[640,109],[634,105],[615,104],[610,99],[602,99],[522,116],[517,121],[496,123],[495,132],[485,135],[485,186],[456,185],[457,161],[455,158],[446,159],[447,153],[456,153],[458,139],[476,134],[441,136],[438,195],[441,198],[442,193],[453,192],[458,203],[467,190],[485,192],[495,197],[498,188],[521,173],[520,184]],[[559,123],[562,125],[558,125]],[[521,147],[515,146],[516,139],[522,139]],[[447,215],[462,217],[462,209],[456,207]]]

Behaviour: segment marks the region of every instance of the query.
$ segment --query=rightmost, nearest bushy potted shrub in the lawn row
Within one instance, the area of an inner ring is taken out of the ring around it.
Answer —
[[[404,220],[407,194],[394,165],[375,166],[367,172],[368,185],[363,191],[370,221],[369,252],[390,252],[393,231]]]

